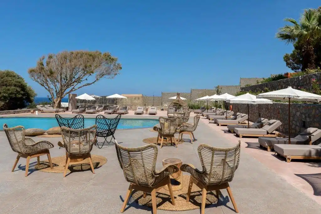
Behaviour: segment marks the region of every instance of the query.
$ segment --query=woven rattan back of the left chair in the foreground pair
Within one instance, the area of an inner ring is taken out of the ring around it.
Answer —
[[[155,182],[157,146],[154,144],[126,148],[115,143],[117,158],[128,182],[140,186],[152,187]]]

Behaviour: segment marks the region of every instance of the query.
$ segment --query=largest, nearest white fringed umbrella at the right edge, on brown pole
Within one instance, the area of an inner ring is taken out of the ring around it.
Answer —
[[[290,138],[290,130],[291,130],[291,121],[290,121],[290,105],[291,105],[291,100],[297,100],[297,101],[308,101],[308,102],[320,102],[321,101],[321,96],[297,89],[293,89],[291,86],[289,86],[286,89],[281,89],[281,90],[276,90],[276,91],[271,91],[271,92],[266,92],[259,94],[257,98],[268,98],[268,99],[276,99],[276,100],[281,100],[281,101],[289,101],[289,144],[291,144],[291,138]]]

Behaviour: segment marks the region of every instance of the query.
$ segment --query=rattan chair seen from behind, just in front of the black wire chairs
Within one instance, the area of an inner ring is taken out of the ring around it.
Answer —
[[[88,158],[92,173],[95,173],[91,162],[92,146],[96,142],[97,125],[85,129],[70,129],[65,126],[61,127],[61,136],[66,149],[66,166],[64,177],[66,176],[70,160],[79,160]]]

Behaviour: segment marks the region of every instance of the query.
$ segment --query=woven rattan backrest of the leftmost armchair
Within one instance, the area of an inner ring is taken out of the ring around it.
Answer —
[[[21,125],[8,128],[7,124],[3,124],[3,130],[7,135],[11,149],[14,152],[23,154],[26,150],[26,146],[24,145],[25,128]]]

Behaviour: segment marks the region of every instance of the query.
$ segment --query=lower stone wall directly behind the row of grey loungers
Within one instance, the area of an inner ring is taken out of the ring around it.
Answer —
[[[232,108],[234,112],[247,114],[247,104],[232,104]],[[288,111],[288,103],[249,104],[249,119],[252,122],[255,122],[258,117],[280,120],[282,122],[282,132],[287,134],[289,132]],[[291,135],[296,136],[309,127],[320,128],[321,105],[291,103],[290,118]]]

